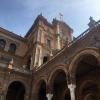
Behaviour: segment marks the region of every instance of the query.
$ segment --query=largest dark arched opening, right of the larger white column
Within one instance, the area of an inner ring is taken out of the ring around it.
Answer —
[[[98,90],[96,85],[94,84],[88,84],[88,86],[85,86],[82,93],[78,93],[78,87],[81,87],[81,85],[86,82],[87,80],[92,80],[94,83],[95,79],[98,80],[98,75],[100,73],[100,66],[99,62],[96,59],[95,56],[87,54],[79,58],[79,62],[77,63],[76,68],[76,92],[77,96],[78,94],[81,94],[80,99],[81,100],[98,100],[98,96],[95,94],[98,94]],[[93,93],[93,95],[89,95]],[[88,97],[86,97],[88,95]],[[87,98],[87,99],[83,99]],[[91,98],[91,99],[90,99]]]

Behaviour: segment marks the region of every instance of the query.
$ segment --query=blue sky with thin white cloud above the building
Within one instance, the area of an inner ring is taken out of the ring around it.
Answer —
[[[62,13],[78,36],[88,28],[90,16],[100,19],[100,0],[0,0],[0,27],[24,36],[40,13],[50,22]]]

